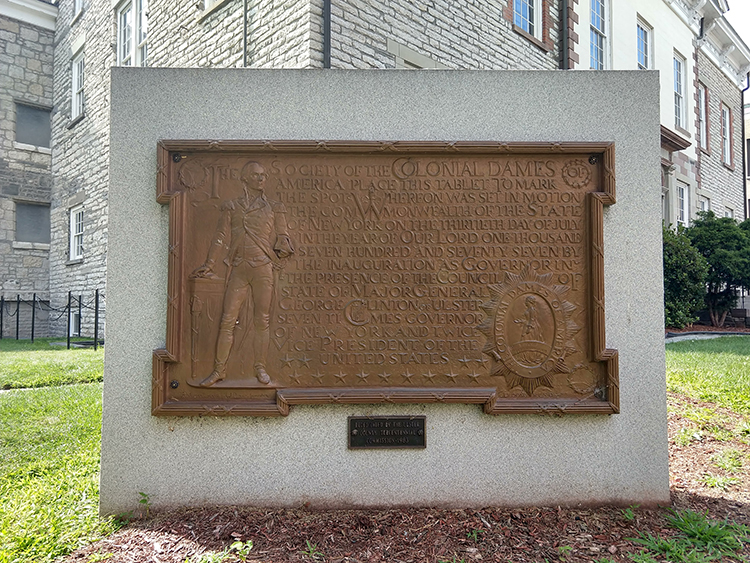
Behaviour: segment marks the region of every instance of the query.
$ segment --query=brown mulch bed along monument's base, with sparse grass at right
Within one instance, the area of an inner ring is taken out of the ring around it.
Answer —
[[[750,525],[750,417],[682,396],[669,396],[672,508]],[[714,463],[726,449],[744,452],[740,472]],[[737,481],[722,490],[705,475]],[[481,510],[269,510],[245,507],[183,509],[135,520],[107,539],[59,563],[192,563],[234,541],[252,540],[252,563],[369,563],[464,561],[543,563],[629,562],[639,532],[674,535],[665,509],[601,507]],[[309,542],[309,543],[308,543]],[[741,556],[750,558],[750,545]],[[103,558],[103,559],[101,559]],[[740,561],[725,558],[723,561]],[[206,561],[206,559],[204,559]],[[220,559],[208,559],[220,561]],[[233,557],[227,563],[238,561]]]

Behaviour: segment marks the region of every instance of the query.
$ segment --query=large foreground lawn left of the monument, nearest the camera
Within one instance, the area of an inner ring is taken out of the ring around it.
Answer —
[[[99,383],[0,393],[0,563],[47,562],[116,528],[100,520]]]

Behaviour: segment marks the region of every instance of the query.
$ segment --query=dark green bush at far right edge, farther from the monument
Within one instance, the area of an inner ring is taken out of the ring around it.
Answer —
[[[737,290],[750,287],[750,223],[738,225],[705,211],[686,233],[708,262],[705,302],[711,324],[723,326],[737,302]]]

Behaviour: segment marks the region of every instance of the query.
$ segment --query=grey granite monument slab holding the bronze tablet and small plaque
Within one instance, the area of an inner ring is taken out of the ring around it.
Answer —
[[[656,73],[111,105],[103,513],[668,502]]]

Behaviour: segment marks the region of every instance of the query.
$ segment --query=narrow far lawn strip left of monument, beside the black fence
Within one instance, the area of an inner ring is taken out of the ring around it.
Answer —
[[[48,387],[102,380],[104,348],[53,346],[65,338],[0,340],[0,389]]]

